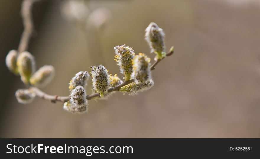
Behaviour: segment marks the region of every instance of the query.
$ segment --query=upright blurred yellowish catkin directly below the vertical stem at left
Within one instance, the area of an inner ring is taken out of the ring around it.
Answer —
[[[24,83],[29,83],[30,77],[35,72],[35,60],[30,52],[22,52],[17,58],[17,68]]]

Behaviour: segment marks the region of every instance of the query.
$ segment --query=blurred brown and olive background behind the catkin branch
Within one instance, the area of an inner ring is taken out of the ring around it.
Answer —
[[[127,44],[153,59],[144,40],[150,22],[163,28],[167,50],[175,46],[173,56],[152,72],[152,89],[90,100],[82,115],[38,97],[28,105],[17,102],[14,93],[25,86],[8,71],[5,57],[17,49],[23,31],[21,2],[0,5],[1,138],[260,137],[259,1],[86,0],[86,8],[72,10],[74,4],[61,0],[36,2],[37,36],[28,51],[37,68],[56,69],[42,89],[48,94],[67,96],[70,78],[93,65],[103,64],[122,78],[114,61],[116,45]],[[91,88],[89,81],[87,94]]]

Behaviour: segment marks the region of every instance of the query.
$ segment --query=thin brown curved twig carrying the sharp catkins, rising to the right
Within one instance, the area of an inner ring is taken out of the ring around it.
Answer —
[[[170,56],[170,55],[172,55],[173,53],[174,53],[174,51],[171,50],[171,51],[168,52],[168,54],[166,54],[166,56]],[[154,69],[155,69],[155,66],[156,66],[160,61],[162,61],[162,60],[163,60],[163,59],[158,59],[158,60],[156,60],[156,61],[150,66],[150,69],[151,69],[151,70],[154,70]],[[117,86],[115,86],[115,87],[112,87],[112,88],[108,89],[108,92],[119,91],[119,89],[120,89],[121,87],[126,86],[126,85],[128,85],[128,84],[130,84],[130,83],[132,83],[132,82],[134,82],[134,79],[131,79],[131,80],[129,80],[129,81],[124,81],[123,83],[121,83],[121,84],[119,84],[119,85],[117,85]],[[40,89],[38,89],[38,88],[36,88],[36,87],[30,87],[30,90],[32,90],[32,91],[36,94],[36,96],[41,97],[42,99],[49,100],[49,101],[54,102],[54,103],[55,103],[56,101],[66,102],[66,101],[68,101],[69,98],[70,98],[69,96],[66,96],[66,97],[62,97],[62,96],[58,96],[58,95],[52,96],[52,95],[49,95],[49,94],[44,93],[43,91],[41,91]],[[89,94],[89,95],[87,95],[86,98],[87,98],[87,100],[90,100],[90,99],[93,99],[93,98],[95,98],[95,97],[99,97],[99,93]]]

